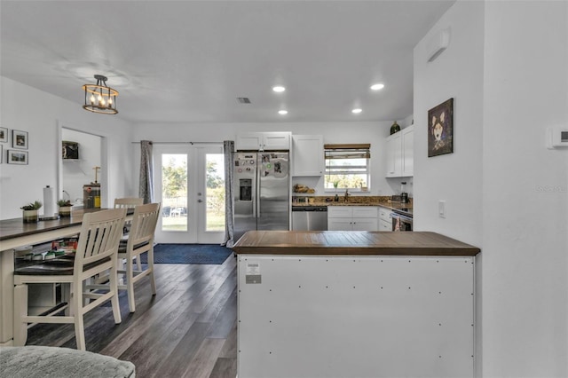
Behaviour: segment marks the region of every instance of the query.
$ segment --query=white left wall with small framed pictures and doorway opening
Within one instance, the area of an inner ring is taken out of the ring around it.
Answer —
[[[132,192],[130,124],[109,115],[84,111],[80,103],[83,99],[81,84],[77,86],[75,103],[4,76],[0,76],[0,80],[0,124],[10,130],[28,131],[29,137],[28,165],[6,164],[5,150],[11,146],[11,141],[2,144],[0,219],[21,217],[21,206],[43,200],[45,185],[58,188],[58,193],[62,190],[58,182],[60,127],[104,137],[103,163],[108,161],[109,169],[102,172],[101,177],[101,183],[108,187],[102,193],[103,207],[108,206],[109,199]]]

